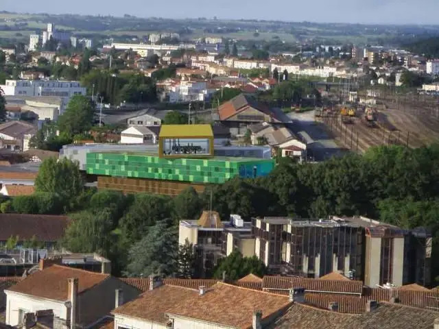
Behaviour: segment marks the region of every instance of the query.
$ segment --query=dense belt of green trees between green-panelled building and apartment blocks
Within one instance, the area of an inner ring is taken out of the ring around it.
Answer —
[[[1,210],[71,215],[64,246],[72,252],[99,252],[112,260],[115,273],[128,276],[153,269],[175,273],[178,221],[198,219],[210,203],[223,220],[230,214],[247,220],[363,215],[405,229],[424,226],[438,252],[439,145],[376,147],[364,156],[349,154],[319,164],[282,158],[266,177],[233,178],[206,186],[203,193],[188,188],[174,198],[95,191],[84,189],[82,182],[76,164],[46,160],[36,193],[5,201]],[[434,264],[433,275],[438,273]]]

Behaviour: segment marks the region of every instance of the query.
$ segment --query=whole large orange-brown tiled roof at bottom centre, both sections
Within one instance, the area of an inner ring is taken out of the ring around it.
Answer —
[[[171,314],[232,328],[251,328],[254,310],[261,310],[264,319],[289,305],[291,303],[286,296],[253,291],[222,282],[207,289],[204,295],[200,295],[198,290],[165,284],[143,293],[112,313],[160,324],[165,324],[166,314]]]

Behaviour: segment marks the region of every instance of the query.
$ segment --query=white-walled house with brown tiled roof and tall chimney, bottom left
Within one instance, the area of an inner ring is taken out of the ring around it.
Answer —
[[[54,323],[89,327],[110,310],[139,295],[139,290],[109,274],[52,265],[5,290],[6,324],[23,324],[25,314],[51,310]]]

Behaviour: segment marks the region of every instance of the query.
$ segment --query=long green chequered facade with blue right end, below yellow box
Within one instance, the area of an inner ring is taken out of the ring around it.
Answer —
[[[224,183],[237,175],[268,175],[274,160],[257,158],[158,158],[117,153],[88,153],[87,173],[127,178],[150,178],[196,183]]]

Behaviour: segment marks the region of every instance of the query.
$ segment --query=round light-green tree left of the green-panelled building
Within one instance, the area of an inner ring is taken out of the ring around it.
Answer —
[[[84,191],[78,162],[67,158],[44,160],[38,170],[35,187],[37,192],[54,193],[67,200],[77,197]]]

